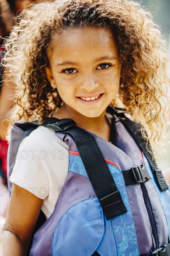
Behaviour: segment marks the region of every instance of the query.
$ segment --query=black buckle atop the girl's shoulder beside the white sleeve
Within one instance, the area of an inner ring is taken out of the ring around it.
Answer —
[[[64,118],[47,125],[48,128],[51,128],[52,130],[55,130],[55,131],[65,131],[75,126],[76,126],[76,122],[70,118]]]

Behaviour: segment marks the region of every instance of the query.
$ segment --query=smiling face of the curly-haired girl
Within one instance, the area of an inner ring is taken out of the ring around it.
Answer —
[[[121,68],[109,30],[72,28],[56,34],[47,54],[47,78],[69,114],[102,114],[118,94]]]

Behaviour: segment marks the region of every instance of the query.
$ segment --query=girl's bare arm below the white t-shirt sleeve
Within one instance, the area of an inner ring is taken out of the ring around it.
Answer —
[[[13,183],[7,218],[1,232],[2,256],[26,255],[42,203],[42,199]]]

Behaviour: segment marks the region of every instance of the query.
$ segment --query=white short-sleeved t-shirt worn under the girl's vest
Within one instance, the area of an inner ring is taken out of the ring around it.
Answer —
[[[9,180],[44,199],[41,209],[49,218],[67,174],[68,143],[39,126],[21,142]]]

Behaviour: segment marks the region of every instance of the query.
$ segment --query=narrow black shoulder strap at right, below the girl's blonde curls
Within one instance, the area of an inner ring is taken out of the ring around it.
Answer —
[[[150,163],[152,172],[155,176],[157,185],[159,190],[164,191],[168,189],[168,186],[165,182],[165,179],[162,175],[161,170],[157,167],[157,163],[154,159],[154,157],[150,154],[150,152],[146,148],[146,141],[142,137],[141,128],[143,126],[140,123],[131,121],[128,119],[124,113],[128,113],[127,111],[124,111],[124,109],[115,109],[113,107],[108,107],[107,111],[109,111],[111,114],[115,114],[119,117],[120,121],[124,124],[124,126],[130,131],[131,135],[133,135],[139,145],[139,147],[144,151],[144,155],[146,156],[147,160]],[[146,131],[144,130],[145,134],[147,135]],[[148,135],[147,135],[148,136]],[[150,142],[148,143],[151,151]]]

